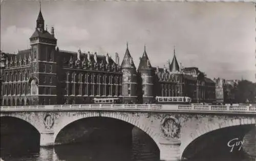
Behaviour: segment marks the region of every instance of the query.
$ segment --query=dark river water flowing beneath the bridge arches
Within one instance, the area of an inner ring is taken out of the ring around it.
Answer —
[[[4,160],[74,160],[74,161],[157,161],[160,154],[156,144],[140,130],[133,131],[131,143],[76,143],[69,145],[58,145],[48,148],[28,147],[26,145],[17,146],[13,150],[6,150],[1,147],[1,158]],[[255,161],[255,130],[245,137],[244,150],[239,156],[218,156],[210,158],[189,159],[188,161]],[[254,139],[254,142],[251,141]]]

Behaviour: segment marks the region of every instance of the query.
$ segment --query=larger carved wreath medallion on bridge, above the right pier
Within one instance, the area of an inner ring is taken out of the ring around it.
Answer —
[[[176,118],[168,116],[162,120],[161,130],[165,137],[175,139],[179,136],[180,124]]]

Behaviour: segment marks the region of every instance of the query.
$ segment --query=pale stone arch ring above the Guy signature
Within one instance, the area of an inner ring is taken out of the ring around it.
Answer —
[[[249,124],[255,124],[255,123],[256,123],[256,118],[240,118],[240,119],[232,119],[229,121],[211,123],[206,126],[202,126],[199,129],[190,133],[189,137],[187,137],[186,139],[183,138],[184,141],[181,143],[181,146],[180,146],[181,156],[183,156],[185,149],[187,148],[187,146],[189,146],[191,142],[198,139],[200,136],[205,135],[206,133],[209,133],[211,131],[215,131],[218,129],[222,129],[225,127],[249,125]]]

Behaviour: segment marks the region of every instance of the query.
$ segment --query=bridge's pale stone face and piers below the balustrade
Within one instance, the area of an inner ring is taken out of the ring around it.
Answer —
[[[239,114],[238,116],[238,114],[210,113],[148,113],[143,111],[16,111],[1,113],[1,117],[19,118],[34,126],[40,133],[41,146],[53,146],[60,130],[80,119],[107,117],[128,122],[140,128],[154,140],[160,150],[161,160],[180,160],[190,143],[206,133],[225,127],[254,126],[256,123],[254,116],[248,114]]]

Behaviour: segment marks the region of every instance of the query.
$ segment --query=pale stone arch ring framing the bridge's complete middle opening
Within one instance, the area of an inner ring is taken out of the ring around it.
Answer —
[[[92,113],[87,113],[87,114],[77,114],[73,117],[70,118],[66,118],[65,119],[61,119],[60,124],[58,126],[56,126],[56,128],[54,129],[54,143],[55,140],[57,138],[58,133],[60,132],[61,129],[63,129],[64,127],[66,127],[67,125],[80,120],[80,119],[84,119],[84,118],[91,118],[91,117],[106,117],[106,118],[113,118],[113,119],[117,119],[117,120],[121,120],[127,123],[130,123],[136,127],[138,127],[139,129],[141,129],[142,131],[144,131],[148,136],[151,137],[151,139],[156,143],[156,145],[158,146],[158,148],[160,149],[160,144],[158,142],[158,133],[156,133],[151,127],[144,125],[142,123],[140,123],[138,120],[133,119],[131,117],[127,117],[121,114],[114,114],[114,113],[96,113],[96,112],[92,112]]]

